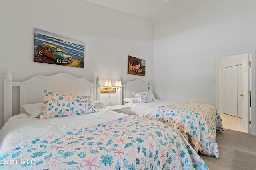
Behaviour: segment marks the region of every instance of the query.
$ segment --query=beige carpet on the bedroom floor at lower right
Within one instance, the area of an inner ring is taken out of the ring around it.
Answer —
[[[216,141],[218,159],[199,154],[210,170],[256,170],[256,136],[225,129]]]

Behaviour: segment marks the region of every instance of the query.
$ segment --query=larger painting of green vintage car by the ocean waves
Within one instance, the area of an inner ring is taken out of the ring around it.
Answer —
[[[35,28],[34,61],[84,68],[85,43]]]

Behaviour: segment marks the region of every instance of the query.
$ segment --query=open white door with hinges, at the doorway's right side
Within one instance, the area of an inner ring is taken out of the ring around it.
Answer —
[[[249,116],[250,116],[250,96],[248,94],[250,90],[250,67],[249,67],[249,54],[243,57],[242,72],[243,72],[243,117],[242,125],[249,131]]]

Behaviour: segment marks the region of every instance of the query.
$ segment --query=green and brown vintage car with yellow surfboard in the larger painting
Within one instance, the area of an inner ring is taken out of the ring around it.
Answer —
[[[56,47],[53,45],[43,43],[38,45],[36,51],[38,51],[39,55],[46,55],[54,59],[58,64],[67,64],[73,61],[71,55],[63,53],[62,47]]]

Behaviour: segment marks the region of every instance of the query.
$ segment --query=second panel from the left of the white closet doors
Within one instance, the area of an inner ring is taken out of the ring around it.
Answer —
[[[228,67],[228,114],[237,117],[237,66]]]

